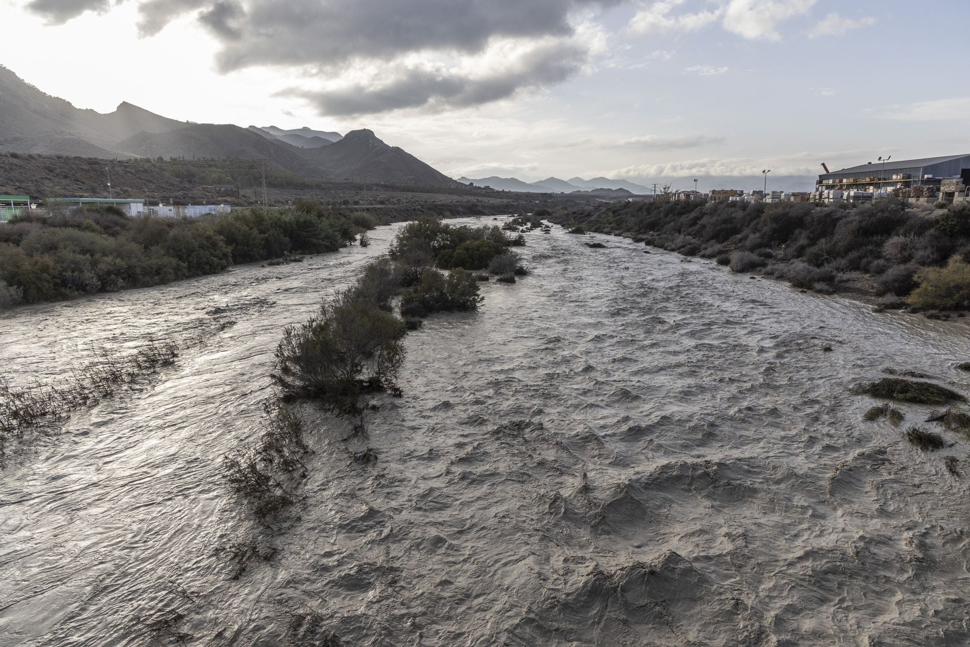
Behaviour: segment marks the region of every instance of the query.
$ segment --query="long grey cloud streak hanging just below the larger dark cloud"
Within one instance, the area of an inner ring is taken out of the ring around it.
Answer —
[[[566,81],[579,71],[585,59],[585,50],[556,42],[533,49],[507,69],[485,77],[404,70],[393,81],[376,87],[354,85],[321,92],[291,89],[281,94],[305,98],[320,113],[332,115],[384,113],[427,106],[467,108],[507,98],[522,88]]]

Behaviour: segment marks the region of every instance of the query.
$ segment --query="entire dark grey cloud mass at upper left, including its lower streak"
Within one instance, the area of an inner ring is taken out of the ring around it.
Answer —
[[[385,78],[366,87],[292,92],[311,98],[324,113],[352,114],[473,106],[520,88],[565,81],[589,56],[570,41],[570,15],[626,0],[116,0],[126,1],[139,2],[144,36],[179,16],[195,16],[222,46],[215,61],[222,73],[271,65],[339,78],[347,65],[386,62]],[[27,7],[64,22],[84,11],[106,11],[110,0],[32,0]],[[496,38],[548,39],[554,45],[498,61],[491,74],[474,78],[402,63],[409,54],[427,51],[478,54]]]

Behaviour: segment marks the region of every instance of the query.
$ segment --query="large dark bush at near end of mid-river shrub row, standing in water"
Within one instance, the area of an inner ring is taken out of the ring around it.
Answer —
[[[283,400],[311,398],[353,414],[362,394],[399,390],[403,332],[400,319],[353,300],[348,291],[325,302],[307,323],[283,331],[271,376]]]

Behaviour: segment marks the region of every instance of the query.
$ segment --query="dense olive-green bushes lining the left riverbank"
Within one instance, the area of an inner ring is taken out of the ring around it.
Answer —
[[[26,215],[0,226],[0,307],[170,283],[234,264],[336,251],[376,226],[298,201],[199,218],[120,210]]]

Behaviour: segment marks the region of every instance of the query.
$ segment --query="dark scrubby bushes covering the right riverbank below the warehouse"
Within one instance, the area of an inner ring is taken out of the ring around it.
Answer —
[[[734,272],[775,276],[831,293],[871,279],[884,304],[970,307],[970,206],[642,202],[550,216],[570,233],[626,236]]]

